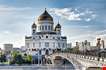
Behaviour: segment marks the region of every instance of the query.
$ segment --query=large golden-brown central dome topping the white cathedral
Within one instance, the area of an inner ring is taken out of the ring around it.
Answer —
[[[46,11],[43,12],[43,14],[41,14],[38,18],[38,21],[43,21],[43,20],[50,20],[53,21],[52,16]]]

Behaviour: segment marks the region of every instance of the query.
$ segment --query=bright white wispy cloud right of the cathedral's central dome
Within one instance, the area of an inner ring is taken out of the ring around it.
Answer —
[[[88,9],[84,10],[83,12],[80,12],[79,9],[72,8],[51,8],[49,9],[49,11],[54,15],[57,15],[61,18],[65,18],[70,21],[84,20],[89,22],[96,17],[94,12]]]

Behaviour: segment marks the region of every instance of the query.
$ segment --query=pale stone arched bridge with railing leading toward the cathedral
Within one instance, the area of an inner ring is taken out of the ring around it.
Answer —
[[[50,58],[53,63],[53,60],[56,56],[67,59],[70,63],[73,64],[76,70],[86,70],[89,67],[101,67],[106,64],[106,59],[103,60],[102,58],[100,58],[100,60],[98,61],[98,57],[70,53],[54,53],[48,56],[48,58]]]

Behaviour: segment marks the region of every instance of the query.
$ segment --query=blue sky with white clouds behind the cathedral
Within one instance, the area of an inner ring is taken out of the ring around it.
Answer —
[[[106,0],[0,0],[0,47],[4,43],[24,46],[32,23],[45,8],[55,25],[60,22],[68,43],[106,40]]]

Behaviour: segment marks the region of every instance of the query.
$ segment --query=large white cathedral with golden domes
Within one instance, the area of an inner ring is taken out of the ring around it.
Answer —
[[[25,47],[31,55],[49,55],[57,49],[65,49],[67,37],[61,36],[61,25],[58,22],[54,27],[52,16],[45,11],[33,22],[32,35],[25,36]]]

